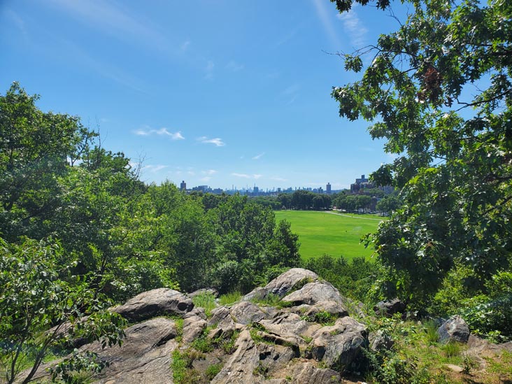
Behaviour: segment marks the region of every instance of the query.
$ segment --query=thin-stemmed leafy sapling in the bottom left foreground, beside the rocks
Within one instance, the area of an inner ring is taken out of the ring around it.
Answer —
[[[120,344],[125,320],[104,311],[94,292],[70,276],[72,263],[58,243],[25,240],[15,246],[0,239],[0,364],[6,383],[17,381],[26,367],[20,382],[29,383],[44,357],[73,339]],[[89,370],[102,367],[94,355],[75,353],[55,376],[71,379],[69,371],[79,371],[85,361]]]

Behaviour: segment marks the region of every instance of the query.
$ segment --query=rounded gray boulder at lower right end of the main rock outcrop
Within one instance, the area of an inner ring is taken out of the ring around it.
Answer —
[[[311,355],[325,362],[328,368],[339,370],[350,367],[367,344],[365,325],[353,318],[339,318],[334,325],[322,327],[313,334]]]

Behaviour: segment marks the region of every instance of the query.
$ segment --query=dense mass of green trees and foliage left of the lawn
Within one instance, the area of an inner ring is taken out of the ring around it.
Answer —
[[[105,304],[156,287],[250,290],[299,264],[297,236],[270,208],[239,195],[187,195],[169,182],[145,185],[122,152],[102,148],[76,117],[44,113],[37,100],[17,83],[0,95],[6,381],[64,348],[75,324],[89,339],[120,340],[122,322],[91,315]],[[45,333],[66,322],[67,333]],[[91,358],[76,355],[55,374],[72,380],[69,370],[94,369]]]

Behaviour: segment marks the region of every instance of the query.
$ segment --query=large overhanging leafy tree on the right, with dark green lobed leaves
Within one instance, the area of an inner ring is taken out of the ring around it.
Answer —
[[[340,12],[350,0],[332,0]],[[365,5],[367,1],[356,0]],[[390,2],[377,1],[388,9]],[[404,207],[374,241],[385,294],[417,305],[455,262],[480,285],[508,269],[512,250],[512,3],[412,1],[396,32],[340,54],[355,83],[334,87],[339,113],[371,122],[397,155],[372,176]]]

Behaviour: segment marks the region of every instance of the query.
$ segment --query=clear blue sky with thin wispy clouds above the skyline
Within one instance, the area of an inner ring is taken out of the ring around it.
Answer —
[[[3,0],[0,92],[99,127],[147,183],[340,189],[391,158],[339,118],[332,53],[397,27],[328,0]]]

